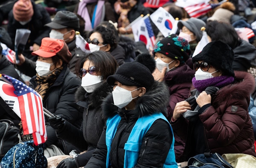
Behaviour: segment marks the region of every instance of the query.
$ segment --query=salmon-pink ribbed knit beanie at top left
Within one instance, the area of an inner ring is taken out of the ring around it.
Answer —
[[[33,5],[30,0],[18,0],[13,8],[12,13],[17,21],[28,21],[34,15]]]

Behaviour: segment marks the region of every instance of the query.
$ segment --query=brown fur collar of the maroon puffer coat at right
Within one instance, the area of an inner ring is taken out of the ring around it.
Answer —
[[[247,72],[235,71],[233,84],[223,87],[216,93],[216,103],[227,102],[232,99],[250,99],[250,93],[255,88],[253,76]]]

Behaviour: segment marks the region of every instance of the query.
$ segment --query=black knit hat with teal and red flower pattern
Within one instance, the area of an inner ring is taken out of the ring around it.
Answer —
[[[191,54],[187,40],[177,36],[176,34],[171,34],[170,36],[160,40],[152,51],[154,55],[156,52],[164,54],[174,60],[178,59],[181,63],[186,62]]]

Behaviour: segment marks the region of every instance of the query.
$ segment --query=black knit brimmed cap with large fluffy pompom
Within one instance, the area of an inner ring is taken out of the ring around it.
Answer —
[[[107,78],[109,85],[115,81],[126,86],[150,87],[154,83],[152,73],[155,71],[155,60],[150,54],[140,54],[135,61],[121,65],[116,74]]]

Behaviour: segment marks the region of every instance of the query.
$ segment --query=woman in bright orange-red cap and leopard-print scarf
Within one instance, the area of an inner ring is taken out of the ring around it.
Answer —
[[[71,53],[63,40],[45,37],[40,49],[32,52],[38,57],[36,64],[37,75],[30,80],[30,87],[39,93],[43,100],[43,106],[50,113],[58,115],[74,127],[80,128],[82,123],[82,111],[75,102],[76,89],[81,86],[81,81],[75,74],[69,71],[68,64]],[[46,122],[47,122],[46,118]],[[56,145],[61,154],[68,154],[75,147],[58,139],[55,129],[47,125],[46,147]],[[76,148],[75,148],[76,149]],[[56,153],[49,153],[55,156]]]

